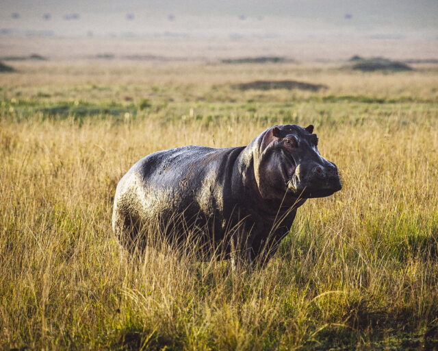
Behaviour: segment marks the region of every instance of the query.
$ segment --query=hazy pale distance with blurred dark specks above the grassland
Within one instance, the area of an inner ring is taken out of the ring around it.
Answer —
[[[438,58],[436,0],[6,0],[0,8],[2,56]]]

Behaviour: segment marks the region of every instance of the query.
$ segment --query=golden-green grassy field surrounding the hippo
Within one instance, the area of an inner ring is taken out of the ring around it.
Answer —
[[[438,66],[18,62],[0,75],[0,348],[438,350]],[[240,90],[255,80],[322,84]],[[146,250],[111,228],[146,154],[315,125],[344,189],[267,267]]]

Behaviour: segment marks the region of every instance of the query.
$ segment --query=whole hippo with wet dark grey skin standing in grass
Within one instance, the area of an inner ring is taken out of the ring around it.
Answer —
[[[155,228],[201,259],[215,253],[258,265],[276,252],[298,207],[341,188],[313,125],[275,125],[247,146],[183,146],[142,158],[118,183],[112,226],[131,251],[141,252]]]

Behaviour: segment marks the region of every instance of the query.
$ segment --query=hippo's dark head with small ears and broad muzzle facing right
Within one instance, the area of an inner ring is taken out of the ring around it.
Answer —
[[[313,125],[276,125],[259,139],[255,175],[261,196],[281,198],[329,196],[341,190],[337,167],[318,151]],[[258,166],[258,167],[257,167]]]

